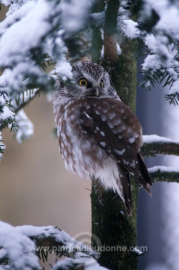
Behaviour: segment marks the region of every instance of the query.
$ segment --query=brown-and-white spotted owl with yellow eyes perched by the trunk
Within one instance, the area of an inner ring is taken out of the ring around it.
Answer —
[[[72,67],[73,83],[58,79],[53,94],[59,150],[70,172],[99,179],[132,213],[129,173],[151,195],[152,179],[143,160],[142,127],[125,105],[105,69],[91,61]]]

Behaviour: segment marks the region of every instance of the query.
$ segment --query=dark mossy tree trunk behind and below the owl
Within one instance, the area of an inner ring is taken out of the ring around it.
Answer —
[[[103,1],[101,1],[103,3]],[[133,54],[134,45],[126,41],[121,46],[122,54],[117,54],[116,23],[118,16],[118,0],[109,0],[104,24],[104,58],[102,66],[109,73],[120,98],[135,111],[136,96],[136,59]],[[101,8],[103,5],[101,4]],[[98,6],[98,12],[100,6]],[[97,12],[97,11],[96,11]],[[97,36],[98,33],[98,36]],[[95,39],[101,38],[99,29],[95,29]],[[98,43],[99,44],[99,43]],[[98,48],[99,49],[99,48]],[[95,51],[93,60],[99,62]],[[128,217],[119,196],[113,191],[105,191],[98,180],[93,181],[91,192],[92,203],[92,233],[100,239],[102,251],[99,263],[112,270],[136,270],[138,264],[137,253],[132,247],[137,245],[136,239],[136,211],[138,184],[132,180],[133,214]],[[97,243],[92,238],[92,244]]]

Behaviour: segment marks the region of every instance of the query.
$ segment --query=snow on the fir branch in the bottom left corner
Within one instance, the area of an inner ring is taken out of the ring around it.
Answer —
[[[0,258],[7,257],[10,261],[11,269],[41,269],[35,253],[36,250],[38,250],[35,239],[44,237],[53,237],[54,240],[59,243],[59,246],[62,245],[61,248],[64,248],[64,250],[75,258],[60,261],[56,263],[52,269],[57,269],[59,266],[69,267],[74,264],[82,264],[85,266],[85,269],[89,270],[105,269],[93,258],[98,254],[97,252],[89,249],[74,238],[71,238],[70,235],[62,229],[53,226],[35,227],[24,225],[13,227],[8,223],[0,221],[0,247],[2,247],[0,250]],[[34,239],[34,241],[30,238]],[[52,247],[52,251],[54,247]],[[72,247],[74,247],[74,249]],[[56,250],[54,248],[54,251]],[[87,253],[81,252],[80,250],[86,250]]]

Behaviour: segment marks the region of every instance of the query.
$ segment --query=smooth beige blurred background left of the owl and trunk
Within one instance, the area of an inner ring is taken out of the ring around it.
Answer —
[[[1,5],[0,21],[8,8]],[[52,101],[32,100],[25,112],[34,125],[32,139],[19,145],[3,130],[0,162],[0,220],[12,225],[60,225],[71,236],[91,230],[91,182],[68,173],[52,135]]]

